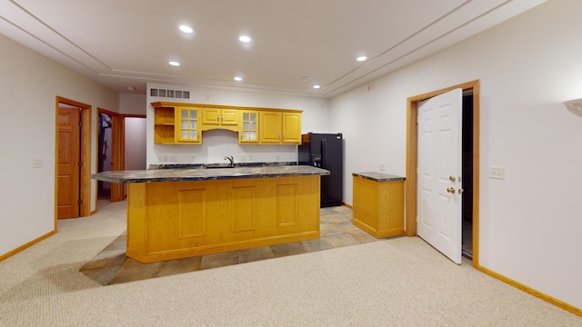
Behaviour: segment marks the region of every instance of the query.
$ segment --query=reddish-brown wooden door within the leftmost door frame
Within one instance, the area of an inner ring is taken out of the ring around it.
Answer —
[[[57,218],[79,216],[80,121],[78,108],[59,107]]]

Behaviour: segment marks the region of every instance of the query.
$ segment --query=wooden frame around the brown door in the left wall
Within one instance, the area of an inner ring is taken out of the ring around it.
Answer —
[[[55,97],[55,231],[58,225],[58,112],[59,104],[72,105],[81,111],[81,171],[79,173],[79,217],[91,215],[91,105],[61,96]]]

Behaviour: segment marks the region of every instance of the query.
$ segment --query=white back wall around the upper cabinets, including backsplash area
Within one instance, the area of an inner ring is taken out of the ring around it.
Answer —
[[[203,132],[202,144],[154,144],[154,109],[151,103],[158,101],[299,109],[303,110],[303,133],[330,131],[329,101],[327,99],[164,84],[148,84],[147,86],[148,89],[154,87],[190,90],[191,94],[191,98],[188,100],[152,97],[147,94],[146,152],[148,166],[152,163],[226,163],[224,160],[226,155],[233,155],[236,163],[296,162],[297,160],[296,145],[240,145],[238,144],[238,134],[225,130]],[[176,161],[172,160],[173,157],[176,158]]]

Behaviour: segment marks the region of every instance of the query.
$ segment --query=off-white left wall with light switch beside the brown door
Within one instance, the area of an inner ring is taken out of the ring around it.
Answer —
[[[93,106],[91,172],[96,171],[96,107],[118,95],[0,35],[0,255],[55,229],[55,97]],[[32,168],[42,159],[42,168]],[[95,210],[95,181],[91,187]]]

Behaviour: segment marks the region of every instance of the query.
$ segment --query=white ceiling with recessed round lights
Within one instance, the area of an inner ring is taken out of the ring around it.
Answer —
[[[545,1],[0,0],[0,33],[119,93],[156,83],[331,97]]]

